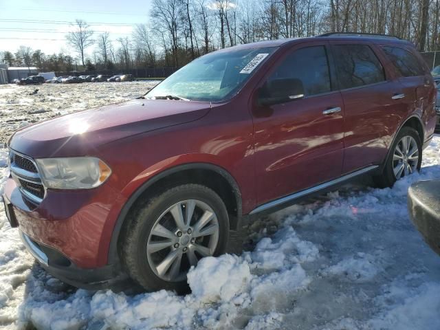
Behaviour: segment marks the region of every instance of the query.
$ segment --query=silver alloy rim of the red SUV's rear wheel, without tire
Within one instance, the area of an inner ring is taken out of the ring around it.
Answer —
[[[393,153],[393,171],[398,180],[417,170],[419,164],[419,146],[414,137],[406,135],[397,143]]]

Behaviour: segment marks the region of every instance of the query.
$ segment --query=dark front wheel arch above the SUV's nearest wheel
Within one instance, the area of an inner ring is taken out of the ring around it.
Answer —
[[[224,168],[214,164],[190,163],[177,165],[145,181],[126,201],[116,219],[111,233],[109,253],[107,256],[107,262],[109,264],[115,263],[119,259],[118,243],[122,234],[123,225],[127,214],[129,214],[130,210],[135,206],[135,203],[140,201],[140,198],[143,196],[148,198],[153,195],[153,191],[160,192],[171,186],[187,183],[202,184],[214,190],[225,202],[230,218],[230,229],[236,230],[239,228],[242,215],[242,200],[241,190],[234,177]]]

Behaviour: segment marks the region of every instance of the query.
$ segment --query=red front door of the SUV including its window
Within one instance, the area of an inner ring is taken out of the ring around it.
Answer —
[[[252,103],[259,204],[339,177],[344,105],[333,88],[327,43],[297,45],[267,74],[259,91],[283,82],[303,88],[289,101]],[[269,87],[268,87],[269,86]]]

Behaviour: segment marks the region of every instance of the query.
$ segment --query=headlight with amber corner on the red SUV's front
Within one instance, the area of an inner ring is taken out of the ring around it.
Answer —
[[[46,188],[89,189],[100,186],[111,169],[96,157],[36,159]]]

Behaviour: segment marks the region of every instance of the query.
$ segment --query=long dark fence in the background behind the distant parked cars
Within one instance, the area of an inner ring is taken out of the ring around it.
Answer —
[[[135,78],[166,78],[177,71],[176,67],[146,67],[143,69],[97,70],[84,72],[55,72],[56,76],[88,76],[89,74],[133,74]]]

